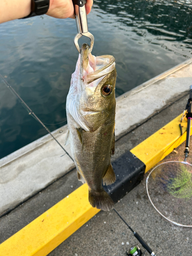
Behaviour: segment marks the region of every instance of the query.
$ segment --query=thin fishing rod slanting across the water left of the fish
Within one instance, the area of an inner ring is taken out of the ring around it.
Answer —
[[[29,108],[29,106],[26,104],[26,102],[15,92],[15,90],[10,86],[10,84],[6,81],[6,79],[0,74],[0,76],[3,78],[7,88],[10,89],[10,91],[20,100],[24,108],[27,110],[28,114],[31,115],[35,120],[37,120],[45,129],[46,131],[51,135],[51,137],[57,142],[57,144],[62,148],[63,151],[71,158],[71,160],[74,162],[73,158],[68,154],[68,152],[63,148],[63,146],[58,142],[58,140],[52,135],[48,127],[44,123],[41,122],[41,120],[35,115],[35,113]]]

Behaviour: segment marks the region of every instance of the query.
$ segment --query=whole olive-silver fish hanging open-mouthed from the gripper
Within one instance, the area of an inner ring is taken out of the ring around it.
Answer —
[[[68,133],[77,177],[89,186],[89,202],[111,210],[114,202],[102,187],[115,182],[111,164],[115,152],[115,58],[95,57],[83,44],[66,101]]]

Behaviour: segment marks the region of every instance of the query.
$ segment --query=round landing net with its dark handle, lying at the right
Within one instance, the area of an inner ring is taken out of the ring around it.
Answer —
[[[155,210],[167,221],[182,227],[192,227],[192,164],[189,154],[192,119],[192,86],[190,86],[181,123],[187,118],[184,160],[166,161],[152,169],[146,179],[147,196]],[[181,136],[182,127],[180,124]]]

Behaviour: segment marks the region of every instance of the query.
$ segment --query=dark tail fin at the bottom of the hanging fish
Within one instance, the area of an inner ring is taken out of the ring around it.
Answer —
[[[89,189],[89,202],[93,207],[101,210],[111,210],[114,208],[113,200],[104,189],[101,192],[93,192]]]

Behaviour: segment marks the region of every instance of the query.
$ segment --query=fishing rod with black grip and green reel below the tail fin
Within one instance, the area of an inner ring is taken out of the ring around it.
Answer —
[[[147,243],[140,237],[140,235],[130,227],[130,225],[123,219],[123,217],[119,214],[119,212],[115,208],[114,208],[114,211],[120,217],[120,219],[127,225],[127,227],[129,227],[129,229],[133,232],[135,238],[141,243],[143,248],[145,248],[148,251],[148,253],[150,253],[150,255],[156,256],[155,252],[152,251],[150,246],[148,246]],[[133,246],[130,249],[129,253],[127,253],[127,255],[130,255],[130,256],[131,255],[133,255],[133,256],[140,256],[140,255],[142,255],[142,252],[141,252],[141,250],[140,250],[140,248],[138,246],[137,246],[137,248],[136,248],[136,246]]]

